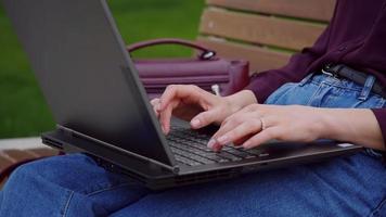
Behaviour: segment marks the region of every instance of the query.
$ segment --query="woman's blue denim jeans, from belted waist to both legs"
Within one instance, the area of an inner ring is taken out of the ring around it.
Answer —
[[[371,79],[366,87],[371,86]],[[384,107],[368,88],[325,75],[286,84],[271,104]],[[363,151],[232,180],[152,192],[69,154],[20,167],[0,192],[0,216],[386,216],[386,169]]]

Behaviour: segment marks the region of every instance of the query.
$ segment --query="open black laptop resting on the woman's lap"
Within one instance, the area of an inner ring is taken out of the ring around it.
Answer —
[[[44,144],[82,152],[150,189],[320,162],[362,146],[320,140],[206,148],[217,130],[173,119],[164,136],[105,0],[3,0],[57,127]],[[127,24],[130,25],[130,24]],[[60,168],[59,168],[60,169]]]

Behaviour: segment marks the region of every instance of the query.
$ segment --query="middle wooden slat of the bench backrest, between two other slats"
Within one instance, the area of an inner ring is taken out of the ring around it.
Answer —
[[[200,31],[299,51],[312,46],[324,28],[304,22],[207,9]]]

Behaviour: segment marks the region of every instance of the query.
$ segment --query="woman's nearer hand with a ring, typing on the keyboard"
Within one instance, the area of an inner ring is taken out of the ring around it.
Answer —
[[[233,142],[250,149],[269,140],[309,142],[321,137],[321,108],[253,104],[229,116],[208,146],[215,151]]]

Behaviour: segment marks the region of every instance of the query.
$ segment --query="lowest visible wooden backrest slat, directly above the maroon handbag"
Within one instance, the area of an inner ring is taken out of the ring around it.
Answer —
[[[219,56],[249,61],[250,73],[279,68],[285,65],[291,58],[290,53],[275,52],[256,46],[211,40],[204,37],[198,37],[197,41],[205,47],[216,50]]]

